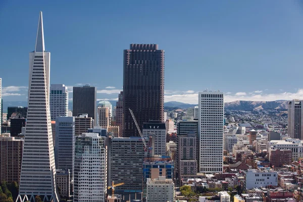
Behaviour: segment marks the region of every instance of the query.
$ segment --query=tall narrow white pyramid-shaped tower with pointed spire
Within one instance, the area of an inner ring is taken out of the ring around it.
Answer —
[[[17,201],[32,202],[37,195],[43,201],[59,201],[49,111],[50,59],[51,53],[44,49],[40,12],[35,51],[29,53],[28,111]]]

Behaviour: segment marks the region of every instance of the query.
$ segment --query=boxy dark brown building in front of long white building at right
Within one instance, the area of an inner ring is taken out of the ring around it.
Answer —
[[[290,149],[271,149],[269,154],[269,161],[272,166],[282,167],[283,165],[290,165],[292,160]]]

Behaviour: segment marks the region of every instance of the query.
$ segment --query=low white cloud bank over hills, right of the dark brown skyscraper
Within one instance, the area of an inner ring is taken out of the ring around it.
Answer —
[[[233,102],[235,100],[250,100],[250,101],[274,101],[274,100],[292,100],[303,99],[303,89],[298,89],[296,92],[280,92],[280,93],[267,93],[267,94],[244,94],[237,92],[235,94],[225,93],[224,101],[226,103]],[[198,103],[198,93],[188,94],[173,94],[165,95],[165,102],[178,101],[188,104]]]

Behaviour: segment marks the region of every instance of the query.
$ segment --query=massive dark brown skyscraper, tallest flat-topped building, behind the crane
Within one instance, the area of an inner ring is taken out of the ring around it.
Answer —
[[[163,120],[163,108],[164,50],[157,44],[130,44],[123,61],[123,136],[139,136],[129,109],[142,130],[144,122]]]

